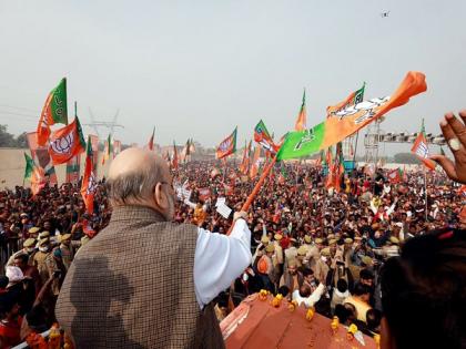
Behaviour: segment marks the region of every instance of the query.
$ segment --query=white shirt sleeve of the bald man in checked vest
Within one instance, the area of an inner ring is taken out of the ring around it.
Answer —
[[[201,309],[251,264],[251,232],[237,219],[230,236],[197,228],[194,254],[194,288]]]

